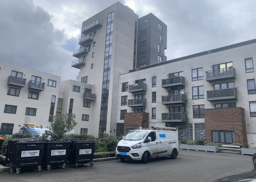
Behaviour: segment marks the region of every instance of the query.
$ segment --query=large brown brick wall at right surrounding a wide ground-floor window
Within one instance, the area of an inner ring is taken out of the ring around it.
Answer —
[[[205,109],[206,142],[212,141],[212,130],[234,131],[236,143],[247,143],[244,108]]]

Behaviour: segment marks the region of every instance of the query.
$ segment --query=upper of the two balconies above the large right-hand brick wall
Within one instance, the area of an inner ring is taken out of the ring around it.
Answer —
[[[236,79],[236,69],[233,67],[206,71],[207,82],[216,82],[230,79]]]

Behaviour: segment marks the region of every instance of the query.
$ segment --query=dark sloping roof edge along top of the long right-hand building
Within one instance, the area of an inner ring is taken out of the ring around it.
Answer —
[[[212,54],[212,53],[215,53],[215,52],[225,51],[225,50],[246,46],[246,45],[249,45],[249,44],[255,44],[255,43],[256,43],[256,39],[247,40],[247,41],[232,44],[232,45],[229,45],[229,46],[225,46],[225,47],[221,47],[221,48],[217,48],[217,49],[212,49],[212,50],[208,50],[208,51],[204,51],[204,52],[199,52],[199,53],[184,56],[184,57],[181,57],[181,58],[172,59],[172,60],[165,61],[165,62],[162,62],[162,63],[151,64],[151,65],[148,65],[148,66],[145,66],[145,67],[141,67],[139,70],[144,70],[144,69],[147,69],[147,68],[161,66],[161,65],[164,65],[164,64],[169,64],[169,63],[173,63],[173,62],[177,62],[177,61],[182,61],[182,60],[185,60],[185,59],[204,56],[204,55],[207,55],[207,54]],[[138,68],[136,68],[136,69],[130,70],[129,73],[139,71],[139,70],[138,70]]]

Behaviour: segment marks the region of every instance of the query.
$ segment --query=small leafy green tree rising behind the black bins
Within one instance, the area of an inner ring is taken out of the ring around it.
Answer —
[[[71,131],[76,126],[76,115],[73,113],[62,114],[60,118],[53,116],[50,122],[50,130],[54,133],[53,138],[62,139],[65,132]]]

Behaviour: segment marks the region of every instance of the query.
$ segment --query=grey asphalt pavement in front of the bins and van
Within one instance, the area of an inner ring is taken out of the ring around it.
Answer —
[[[212,182],[225,176],[252,171],[252,156],[180,150],[177,159],[162,157],[147,164],[120,160],[53,168],[0,173],[0,182]]]

